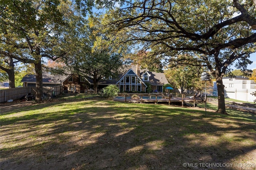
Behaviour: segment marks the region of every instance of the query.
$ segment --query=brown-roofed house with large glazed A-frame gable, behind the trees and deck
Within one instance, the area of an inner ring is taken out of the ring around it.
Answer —
[[[103,89],[108,85],[117,85],[120,92],[146,91],[146,82],[150,83],[153,92],[162,92],[163,85],[168,84],[164,73],[142,70],[138,66],[132,66],[118,78],[104,77],[98,82],[98,89]],[[24,86],[36,86],[35,75],[23,77]],[[50,75],[43,74],[43,86],[53,87],[62,84],[63,90],[71,93],[84,93],[93,87],[93,81],[80,75]]]

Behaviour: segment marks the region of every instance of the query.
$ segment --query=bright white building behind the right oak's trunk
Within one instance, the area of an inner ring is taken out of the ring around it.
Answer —
[[[225,92],[225,97],[230,99],[236,99],[240,101],[248,101],[253,102],[256,97],[251,93],[256,91],[256,83],[253,80],[249,80],[248,77],[244,76],[236,76],[234,78],[223,77],[222,79]],[[216,81],[213,82],[213,94],[216,96],[217,93],[217,85]]]

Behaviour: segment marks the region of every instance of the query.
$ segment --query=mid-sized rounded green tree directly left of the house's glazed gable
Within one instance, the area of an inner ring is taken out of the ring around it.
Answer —
[[[66,45],[68,55],[62,61],[66,64],[66,71],[92,79],[97,93],[98,82],[103,77],[114,77],[122,66],[122,55],[115,49],[113,42],[101,33],[96,17],[89,18],[89,22],[84,18],[77,19],[74,23],[76,32],[71,31],[65,36],[66,42],[75,44],[75,47]]]

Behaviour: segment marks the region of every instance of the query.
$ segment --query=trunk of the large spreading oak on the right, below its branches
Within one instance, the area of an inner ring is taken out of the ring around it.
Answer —
[[[217,113],[227,114],[225,106],[225,94],[224,94],[224,85],[222,82],[222,77],[216,71],[216,84],[218,91],[218,110]]]

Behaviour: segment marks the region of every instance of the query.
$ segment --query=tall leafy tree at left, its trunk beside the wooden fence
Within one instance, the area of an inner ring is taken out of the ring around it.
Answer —
[[[36,102],[42,100],[42,60],[64,55],[60,43],[68,1],[0,1],[1,56],[34,65]]]

